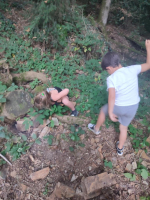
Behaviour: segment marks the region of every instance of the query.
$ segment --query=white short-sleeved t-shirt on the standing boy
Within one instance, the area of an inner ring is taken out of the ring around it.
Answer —
[[[107,78],[108,88],[115,88],[115,105],[130,106],[139,103],[138,74],[141,65],[122,67]]]

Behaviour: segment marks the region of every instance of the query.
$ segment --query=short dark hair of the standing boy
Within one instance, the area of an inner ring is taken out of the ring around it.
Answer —
[[[120,64],[120,58],[118,54],[115,52],[108,52],[102,59],[102,69],[106,70],[106,67],[112,66],[112,67],[117,67]]]

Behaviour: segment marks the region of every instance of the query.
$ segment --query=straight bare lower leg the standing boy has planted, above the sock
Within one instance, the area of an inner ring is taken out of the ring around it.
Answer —
[[[118,145],[118,148],[119,149],[122,149],[123,148],[123,145],[127,139],[127,130],[128,130],[128,127],[127,126],[123,126],[122,124],[120,124],[120,136],[119,136],[119,145]]]

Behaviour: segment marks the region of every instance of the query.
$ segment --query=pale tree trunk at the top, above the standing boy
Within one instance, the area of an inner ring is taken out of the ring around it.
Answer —
[[[98,21],[100,23],[102,23],[102,25],[104,25],[104,26],[107,24],[110,4],[111,4],[111,0],[103,0],[102,1]]]

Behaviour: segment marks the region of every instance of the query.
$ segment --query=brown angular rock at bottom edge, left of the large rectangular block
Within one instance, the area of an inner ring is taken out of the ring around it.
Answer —
[[[75,195],[75,190],[64,185],[63,183],[58,182],[55,186],[55,189],[52,195],[48,198],[48,200],[54,200],[55,197],[69,199]]]

